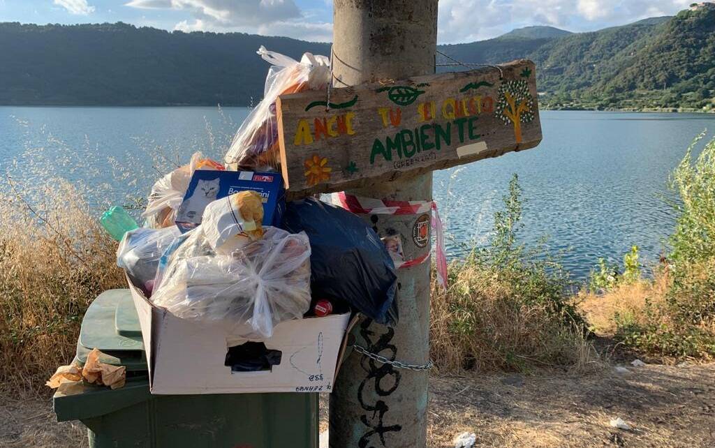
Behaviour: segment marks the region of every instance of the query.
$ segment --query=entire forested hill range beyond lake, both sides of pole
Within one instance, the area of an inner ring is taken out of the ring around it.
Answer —
[[[0,104],[246,105],[268,64],[260,45],[299,58],[329,44],[132,25],[0,24]],[[541,106],[715,110],[715,4],[674,17],[570,33],[528,26],[439,51],[473,64],[536,62]],[[438,70],[463,70],[438,56]]]

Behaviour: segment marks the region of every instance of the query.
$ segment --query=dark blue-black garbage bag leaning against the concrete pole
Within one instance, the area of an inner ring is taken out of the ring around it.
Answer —
[[[314,198],[289,202],[282,228],[310,239],[312,297],[347,302],[375,322],[398,322],[395,264],[359,216]]]

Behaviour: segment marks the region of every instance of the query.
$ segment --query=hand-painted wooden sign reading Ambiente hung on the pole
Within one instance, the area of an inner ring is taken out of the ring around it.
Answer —
[[[466,164],[541,141],[536,68],[485,69],[282,95],[283,179],[291,196],[340,191]]]

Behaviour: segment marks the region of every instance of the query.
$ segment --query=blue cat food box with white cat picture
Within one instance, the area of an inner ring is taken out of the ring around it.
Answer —
[[[177,212],[177,226],[182,232],[188,232],[201,224],[204,209],[209,202],[246,190],[257,191],[263,199],[262,224],[280,226],[285,211],[285,189],[280,173],[208,169],[194,171]]]

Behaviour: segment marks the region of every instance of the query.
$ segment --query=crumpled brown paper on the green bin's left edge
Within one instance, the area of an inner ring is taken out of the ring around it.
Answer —
[[[46,382],[46,386],[57,389],[70,384],[77,384],[84,379],[89,384],[109,386],[111,389],[124,387],[124,382],[127,379],[127,367],[112,366],[99,362],[99,355],[101,354],[102,352],[99,350],[92,349],[92,352],[87,355],[87,362],[84,367],[74,364],[59,367],[49,381]]]

